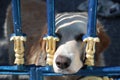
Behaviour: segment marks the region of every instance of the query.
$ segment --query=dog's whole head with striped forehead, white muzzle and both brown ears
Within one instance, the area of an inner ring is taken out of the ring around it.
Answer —
[[[87,16],[85,13],[63,13],[61,15],[56,18],[55,32],[60,41],[57,42],[53,69],[56,73],[73,74],[79,71],[84,63],[86,44],[82,41],[82,37],[87,32]],[[47,27],[41,28],[43,28],[41,35],[46,34]],[[101,66],[100,61],[103,58],[100,57],[100,53],[108,47],[110,39],[99,21],[97,21],[97,35],[100,42],[96,43],[95,65]],[[46,48],[42,38],[43,36],[30,48],[26,59],[27,64],[46,65]]]

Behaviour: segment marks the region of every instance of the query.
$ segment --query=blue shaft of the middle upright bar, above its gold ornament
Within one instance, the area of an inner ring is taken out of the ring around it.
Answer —
[[[54,0],[47,0],[48,36],[55,36]]]

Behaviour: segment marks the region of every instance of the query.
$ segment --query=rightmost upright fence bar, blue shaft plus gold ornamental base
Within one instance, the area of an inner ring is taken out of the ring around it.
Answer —
[[[94,66],[95,44],[100,41],[96,35],[97,0],[89,0],[88,4],[87,34],[83,37],[87,43],[85,65]]]

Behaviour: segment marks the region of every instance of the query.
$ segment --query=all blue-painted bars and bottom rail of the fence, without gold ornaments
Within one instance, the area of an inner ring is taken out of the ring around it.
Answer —
[[[53,1],[53,2],[50,2]],[[85,37],[96,37],[96,3],[97,0],[89,0],[89,21],[88,21],[88,34]],[[55,36],[55,22],[54,22],[54,0],[47,0],[49,4],[48,9],[48,35]],[[14,20],[14,36],[24,36],[21,31],[21,18],[20,18],[20,0],[12,0],[13,5],[13,20]],[[50,11],[49,11],[50,10]],[[52,23],[51,23],[52,21]],[[53,26],[53,28],[51,28]],[[51,30],[52,29],[52,30]],[[52,33],[51,33],[52,32]],[[91,33],[92,32],[92,33]],[[63,76],[64,74],[54,73],[52,66],[35,66],[35,65],[1,65],[0,74],[5,75],[29,75],[30,80],[43,80],[44,76]],[[86,66],[76,74],[80,76],[108,76],[116,80],[120,80],[120,67],[90,67]],[[69,75],[68,75],[69,76]]]

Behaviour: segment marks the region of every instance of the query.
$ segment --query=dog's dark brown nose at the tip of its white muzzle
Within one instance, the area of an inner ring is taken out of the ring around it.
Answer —
[[[70,66],[71,63],[71,59],[65,56],[61,56],[59,55],[56,58],[56,65],[57,67],[59,67],[60,69],[65,69],[68,68]]]

